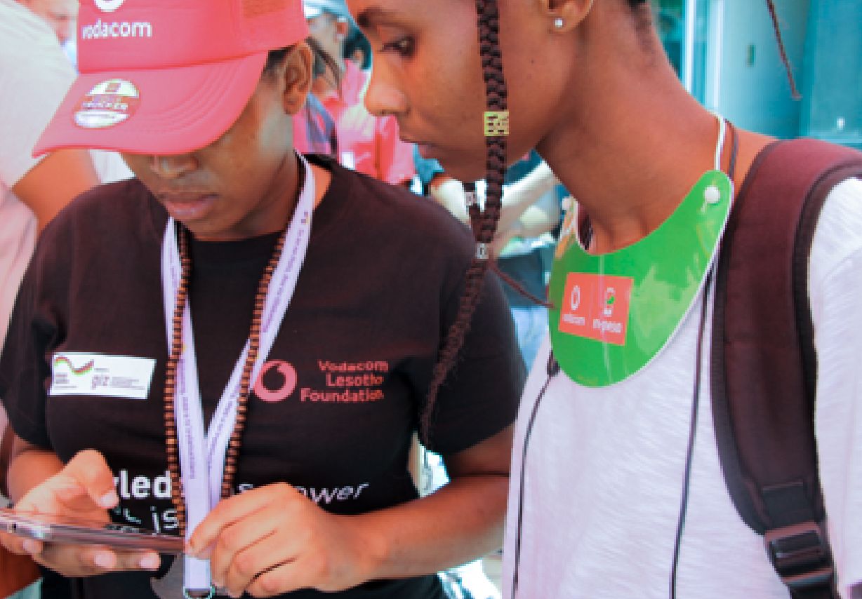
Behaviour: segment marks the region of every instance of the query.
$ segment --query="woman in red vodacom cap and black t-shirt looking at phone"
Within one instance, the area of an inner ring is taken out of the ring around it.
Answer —
[[[0,363],[10,494],[184,535],[185,555],[3,545],[82,597],[442,599],[435,572],[502,542],[524,376],[496,280],[468,280],[463,326],[471,235],[294,152],[299,0],[99,0],[79,22],[37,152],[116,149],[136,178],[79,197],[35,253]],[[451,478],[422,499],[420,420]]]

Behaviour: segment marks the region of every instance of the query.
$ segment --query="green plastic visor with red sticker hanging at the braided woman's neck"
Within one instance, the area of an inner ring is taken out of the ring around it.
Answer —
[[[727,175],[706,172],[659,228],[597,256],[578,244],[569,219],[551,270],[548,318],[553,355],[573,381],[619,383],[667,344],[703,284],[732,193]]]

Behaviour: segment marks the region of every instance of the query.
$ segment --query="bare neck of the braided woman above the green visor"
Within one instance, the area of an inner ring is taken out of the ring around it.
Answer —
[[[673,213],[713,168],[719,131],[663,55],[632,47],[615,56],[607,45],[613,41],[581,48],[570,87],[585,91],[565,95],[537,145],[590,215],[599,253],[631,245]],[[660,45],[653,52],[661,53]]]

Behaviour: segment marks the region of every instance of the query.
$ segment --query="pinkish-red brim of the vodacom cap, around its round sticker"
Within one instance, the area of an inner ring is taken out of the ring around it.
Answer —
[[[266,54],[202,66],[81,74],[36,142],[33,155],[62,148],[167,155],[206,147],[239,118],[259,82]],[[128,117],[108,124],[80,124],[81,115],[88,115],[81,109],[84,99],[112,79],[130,82],[138,92]]]

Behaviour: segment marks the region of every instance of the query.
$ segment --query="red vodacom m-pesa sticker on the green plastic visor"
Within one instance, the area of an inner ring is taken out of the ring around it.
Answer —
[[[626,345],[632,278],[570,272],[559,310],[562,333]]]

